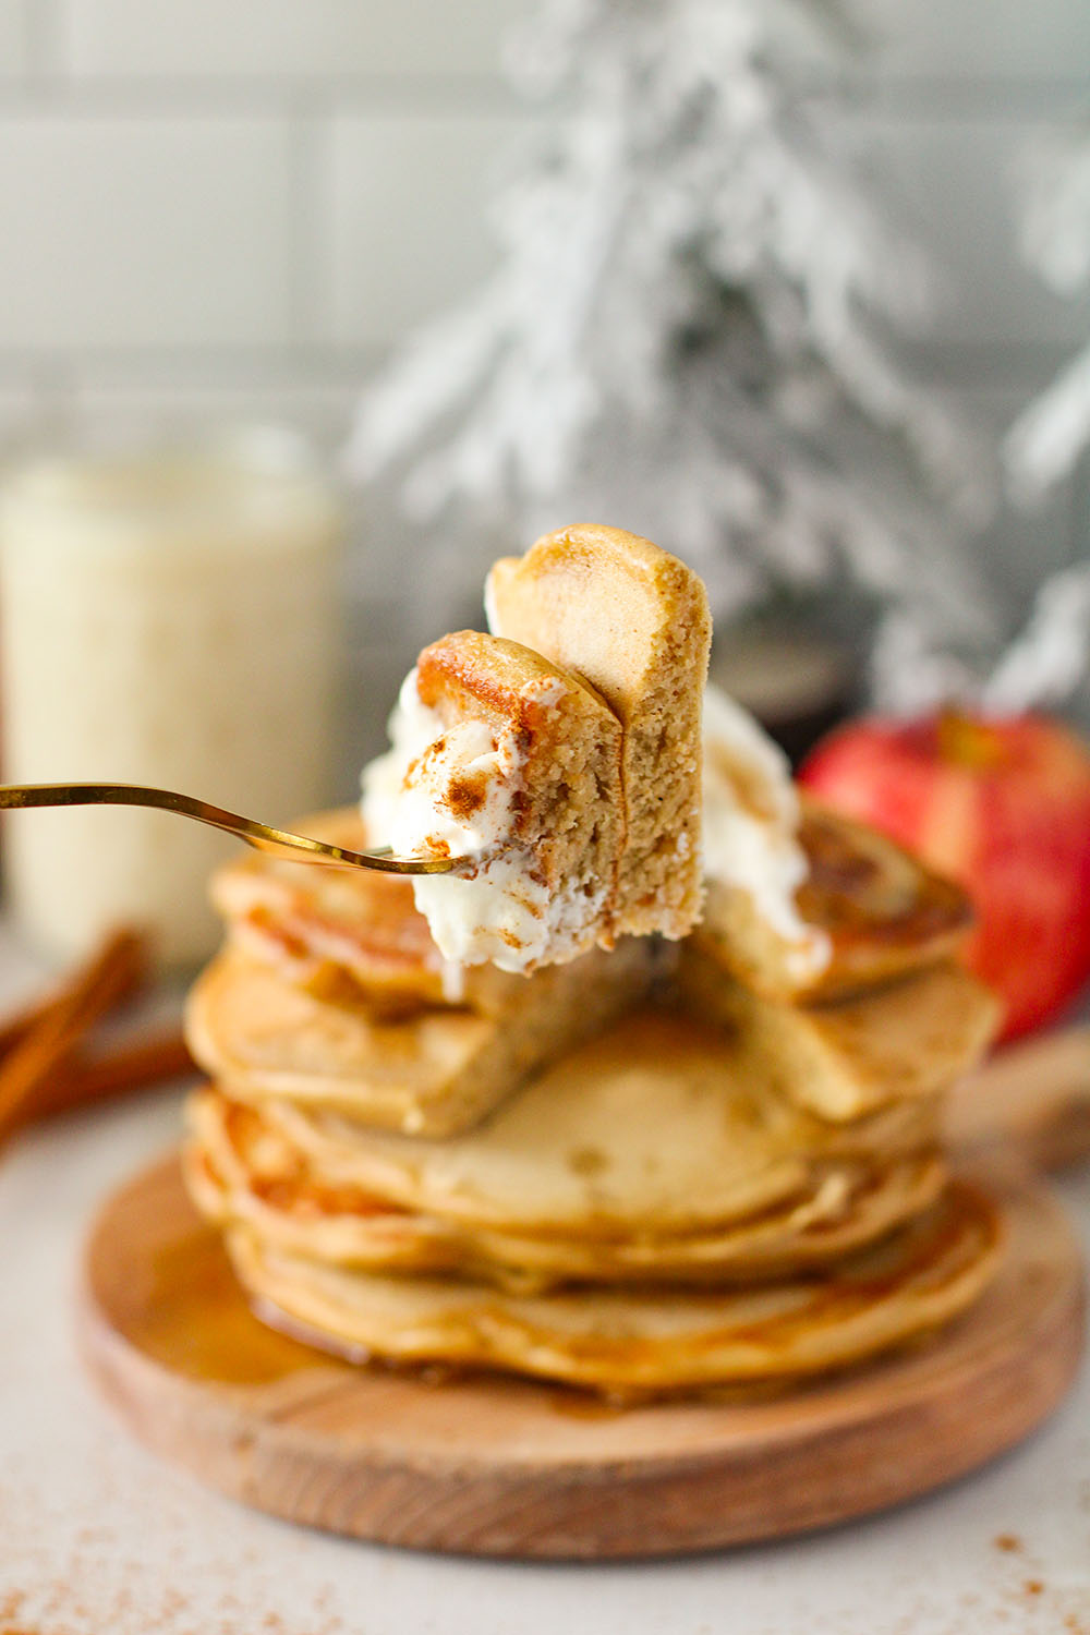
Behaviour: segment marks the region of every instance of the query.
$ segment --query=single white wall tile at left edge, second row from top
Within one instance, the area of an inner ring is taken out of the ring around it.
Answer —
[[[0,348],[275,347],[283,119],[0,119]]]

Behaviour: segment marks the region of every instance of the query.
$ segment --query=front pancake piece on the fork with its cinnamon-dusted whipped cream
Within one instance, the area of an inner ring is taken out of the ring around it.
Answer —
[[[467,860],[413,880],[448,960],[521,973],[613,947],[621,723],[585,682],[462,629],[420,654],[389,731],[364,822],[402,855]]]

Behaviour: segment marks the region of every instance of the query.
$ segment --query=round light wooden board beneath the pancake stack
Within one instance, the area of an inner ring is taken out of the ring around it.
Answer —
[[[351,1367],[273,1333],[172,1158],[92,1231],[82,1349],[155,1452],[333,1532],[583,1560],[783,1537],[961,1476],[1064,1395],[1082,1351],[1079,1246],[1041,1187],[1002,1190],[1003,1267],[938,1337],[791,1395],[611,1409],[520,1380]]]

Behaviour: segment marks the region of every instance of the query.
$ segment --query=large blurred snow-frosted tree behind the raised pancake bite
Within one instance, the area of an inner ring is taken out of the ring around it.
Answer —
[[[833,0],[538,7],[510,56],[546,114],[495,201],[498,271],[350,448],[397,476],[446,592],[582,518],[685,556],[717,615],[848,572],[930,631],[981,623],[979,468],[881,338],[922,267],[814,95],[853,39]]]

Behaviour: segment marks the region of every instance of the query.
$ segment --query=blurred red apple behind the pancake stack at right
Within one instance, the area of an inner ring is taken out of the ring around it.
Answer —
[[[1090,978],[1090,752],[1046,716],[943,711],[848,723],[799,773],[972,898],[966,963],[1003,1001],[1005,1040]]]

